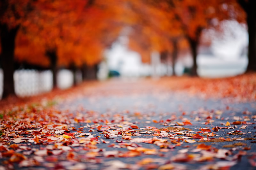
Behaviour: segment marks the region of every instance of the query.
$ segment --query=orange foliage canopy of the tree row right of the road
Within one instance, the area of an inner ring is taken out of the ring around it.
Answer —
[[[131,38],[137,38],[140,34],[140,37],[146,37],[144,39],[147,39],[148,44],[145,46],[135,39],[130,47],[136,49],[134,46],[140,45],[139,52],[142,56],[146,56],[148,49],[172,51],[173,40],[181,41],[178,47],[180,49],[189,46],[184,38],[198,44],[202,30],[210,27],[218,29],[222,20],[245,22],[245,13],[236,0],[142,0],[130,1],[130,4],[137,17],[132,23],[133,27],[138,23],[140,25],[140,29],[135,27]],[[147,56],[149,60],[150,56]],[[143,57],[143,60],[147,59]]]

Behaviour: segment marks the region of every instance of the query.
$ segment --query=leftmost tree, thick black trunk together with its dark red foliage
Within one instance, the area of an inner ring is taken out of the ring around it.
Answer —
[[[17,32],[26,25],[28,15],[34,10],[32,0],[0,2],[1,67],[4,73],[2,98],[15,95],[14,92],[14,50]]]

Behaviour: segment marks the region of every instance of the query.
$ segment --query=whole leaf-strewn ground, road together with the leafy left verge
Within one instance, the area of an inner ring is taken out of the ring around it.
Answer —
[[[255,169],[254,100],[161,83],[113,79],[2,112],[0,170]]]

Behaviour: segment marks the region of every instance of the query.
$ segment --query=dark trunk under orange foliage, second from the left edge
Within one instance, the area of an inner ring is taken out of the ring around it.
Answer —
[[[53,82],[53,89],[58,88],[57,86],[57,73],[58,73],[58,67],[57,67],[57,54],[56,54],[56,49],[52,49],[52,50],[47,50],[46,51],[46,56],[49,58],[50,60],[50,67],[51,67],[51,71],[52,71],[52,82]]]

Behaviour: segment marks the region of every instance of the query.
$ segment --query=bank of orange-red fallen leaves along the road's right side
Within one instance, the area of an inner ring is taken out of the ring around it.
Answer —
[[[228,78],[166,77],[156,82],[167,89],[188,91],[204,98],[229,98],[232,101],[256,100],[256,74],[242,74]]]

